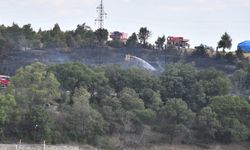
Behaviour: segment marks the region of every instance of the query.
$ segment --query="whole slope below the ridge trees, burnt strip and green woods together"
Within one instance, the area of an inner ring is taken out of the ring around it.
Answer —
[[[2,143],[245,150],[249,142],[246,59],[110,47],[1,58],[1,72],[11,75],[0,89]]]

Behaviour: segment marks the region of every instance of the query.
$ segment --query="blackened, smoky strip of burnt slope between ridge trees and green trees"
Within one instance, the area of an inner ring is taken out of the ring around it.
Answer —
[[[206,57],[191,57],[188,55],[171,54],[165,51],[154,51],[140,48],[110,48],[96,47],[85,49],[46,49],[46,50],[12,50],[5,55],[0,55],[0,71],[12,75],[16,69],[33,62],[45,64],[60,64],[65,62],[81,62],[89,66],[119,64],[123,67],[136,66],[125,61],[125,56],[131,54],[144,59],[162,71],[168,63],[185,61],[194,63],[198,68],[214,67],[219,70],[232,73],[236,67],[225,59]]]

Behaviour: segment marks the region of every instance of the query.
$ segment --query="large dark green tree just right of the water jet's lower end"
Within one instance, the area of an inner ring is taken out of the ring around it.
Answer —
[[[204,88],[197,80],[197,69],[190,64],[168,64],[161,74],[162,100],[181,98],[193,111],[206,104]]]

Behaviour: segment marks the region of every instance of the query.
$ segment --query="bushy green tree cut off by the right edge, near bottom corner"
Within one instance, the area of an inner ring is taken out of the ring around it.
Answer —
[[[248,138],[250,104],[245,99],[238,96],[217,96],[211,99],[209,106],[222,125],[216,132],[217,140],[230,143]]]

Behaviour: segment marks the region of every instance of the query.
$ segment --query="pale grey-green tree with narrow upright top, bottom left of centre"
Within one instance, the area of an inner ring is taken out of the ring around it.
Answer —
[[[89,104],[90,93],[79,88],[74,93],[72,106],[62,110],[65,116],[64,131],[72,141],[95,144],[104,132],[102,115]]]

